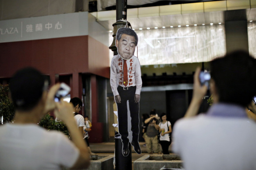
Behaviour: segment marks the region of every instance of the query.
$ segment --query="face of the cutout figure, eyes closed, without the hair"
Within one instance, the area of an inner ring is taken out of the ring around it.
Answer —
[[[119,41],[115,40],[115,46],[117,46],[117,52],[122,58],[130,59],[135,51],[135,38],[131,35],[122,34]]]

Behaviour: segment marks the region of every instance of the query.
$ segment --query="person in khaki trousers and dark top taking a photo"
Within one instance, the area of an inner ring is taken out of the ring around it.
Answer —
[[[158,129],[159,129],[159,121],[155,118],[155,112],[150,112],[150,118],[144,121],[145,124],[149,124],[147,126],[147,132],[144,134],[145,142],[147,147],[147,153],[150,155],[154,153],[161,154],[159,143],[158,143]]]

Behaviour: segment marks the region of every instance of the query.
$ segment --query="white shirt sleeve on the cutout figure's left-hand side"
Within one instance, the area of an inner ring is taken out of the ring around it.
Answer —
[[[119,95],[117,91],[117,68],[115,56],[112,58],[111,66],[110,66],[110,85],[112,88],[112,92],[114,96]]]

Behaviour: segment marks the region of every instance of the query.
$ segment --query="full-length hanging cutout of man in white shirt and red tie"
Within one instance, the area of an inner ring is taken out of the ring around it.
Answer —
[[[118,131],[122,140],[122,154],[129,154],[127,127],[127,100],[131,116],[131,145],[134,151],[141,153],[138,142],[139,135],[139,99],[142,87],[141,66],[134,56],[138,36],[131,28],[119,28],[116,34],[115,46],[118,55],[114,56],[110,67],[110,84],[118,109]]]

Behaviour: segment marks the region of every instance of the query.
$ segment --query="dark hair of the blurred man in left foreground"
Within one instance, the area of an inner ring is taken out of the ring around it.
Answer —
[[[49,82],[40,71],[32,67],[18,70],[10,80],[11,100],[19,111],[33,109],[47,90]]]

